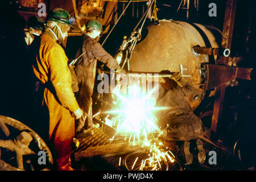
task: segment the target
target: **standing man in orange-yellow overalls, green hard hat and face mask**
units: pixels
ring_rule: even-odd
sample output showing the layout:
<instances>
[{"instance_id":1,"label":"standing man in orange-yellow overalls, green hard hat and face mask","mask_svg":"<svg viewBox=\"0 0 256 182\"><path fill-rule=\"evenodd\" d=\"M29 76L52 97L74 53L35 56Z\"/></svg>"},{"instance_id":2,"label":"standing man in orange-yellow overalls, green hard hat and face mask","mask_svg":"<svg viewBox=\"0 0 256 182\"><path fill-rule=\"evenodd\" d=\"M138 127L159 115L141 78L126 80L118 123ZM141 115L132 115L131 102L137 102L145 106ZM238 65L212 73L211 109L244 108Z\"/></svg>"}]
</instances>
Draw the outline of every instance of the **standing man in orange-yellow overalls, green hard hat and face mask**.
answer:
<instances>
[{"instance_id":1,"label":"standing man in orange-yellow overalls, green hard hat and face mask","mask_svg":"<svg viewBox=\"0 0 256 182\"><path fill-rule=\"evenodd\" d=\"M63 9L50 11L46 23L33 69L45 86L44 103L49 112L49 140L54 146L56 169L72 170L70 155L75 136L75 117L81 118L82 110L72 92L68 58L60 46L72 24L68 12Z\"/></svg>"}]
</instances>

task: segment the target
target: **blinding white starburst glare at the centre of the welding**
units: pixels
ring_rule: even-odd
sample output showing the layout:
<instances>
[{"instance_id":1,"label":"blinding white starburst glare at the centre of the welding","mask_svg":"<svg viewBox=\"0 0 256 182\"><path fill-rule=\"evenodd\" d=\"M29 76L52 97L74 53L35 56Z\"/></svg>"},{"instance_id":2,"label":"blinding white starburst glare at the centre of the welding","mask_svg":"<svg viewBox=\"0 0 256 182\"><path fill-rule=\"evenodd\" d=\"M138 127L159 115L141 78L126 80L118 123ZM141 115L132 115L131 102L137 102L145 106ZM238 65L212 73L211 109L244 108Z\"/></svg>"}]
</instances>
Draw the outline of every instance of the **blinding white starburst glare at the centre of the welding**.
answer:
<instances>
[{"instance_id":1,"label":"blinding white starburst glare at the centre of the welding","mask_svg":"<svg viewBox=\"0 0 256 182\"><path fill-rule=\"evenodd\" d=\"M154 111L165 109L166 107L155 107L155 98L152 97L154 89L144 94L137 85L131 85L127 94L114 93L117 97L118 109L105 113L117 114L116 120L118 133L136 134L146 137L149 133L159 132L157 118Z\"/></svg>"}]
</instances>

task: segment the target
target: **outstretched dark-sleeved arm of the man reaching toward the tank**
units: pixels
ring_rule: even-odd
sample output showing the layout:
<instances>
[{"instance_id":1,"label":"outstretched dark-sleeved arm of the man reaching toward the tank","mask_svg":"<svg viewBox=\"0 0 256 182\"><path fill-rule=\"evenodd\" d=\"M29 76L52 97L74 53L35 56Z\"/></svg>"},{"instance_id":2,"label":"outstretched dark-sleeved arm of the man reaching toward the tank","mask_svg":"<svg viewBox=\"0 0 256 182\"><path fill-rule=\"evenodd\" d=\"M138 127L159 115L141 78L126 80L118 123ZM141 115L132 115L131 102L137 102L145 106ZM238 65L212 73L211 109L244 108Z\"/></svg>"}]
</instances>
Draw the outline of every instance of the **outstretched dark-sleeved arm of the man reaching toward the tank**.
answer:
<instances>
[{"instance_id":1,"label":"outstretched dark-sleeved arm of the man reaching toward the tank","mask_svg":"<svg viewBox=\"0 0 256 182\"><path fill-rule=\"evenodd\" d=\"M92 46L93 56L96 59L100 60L102 63L106 64L110 69L117 69L118 63L108 52L105 51L103 47L101 47L100 43L96 43Z\"/></svg>"}]
</instances>

